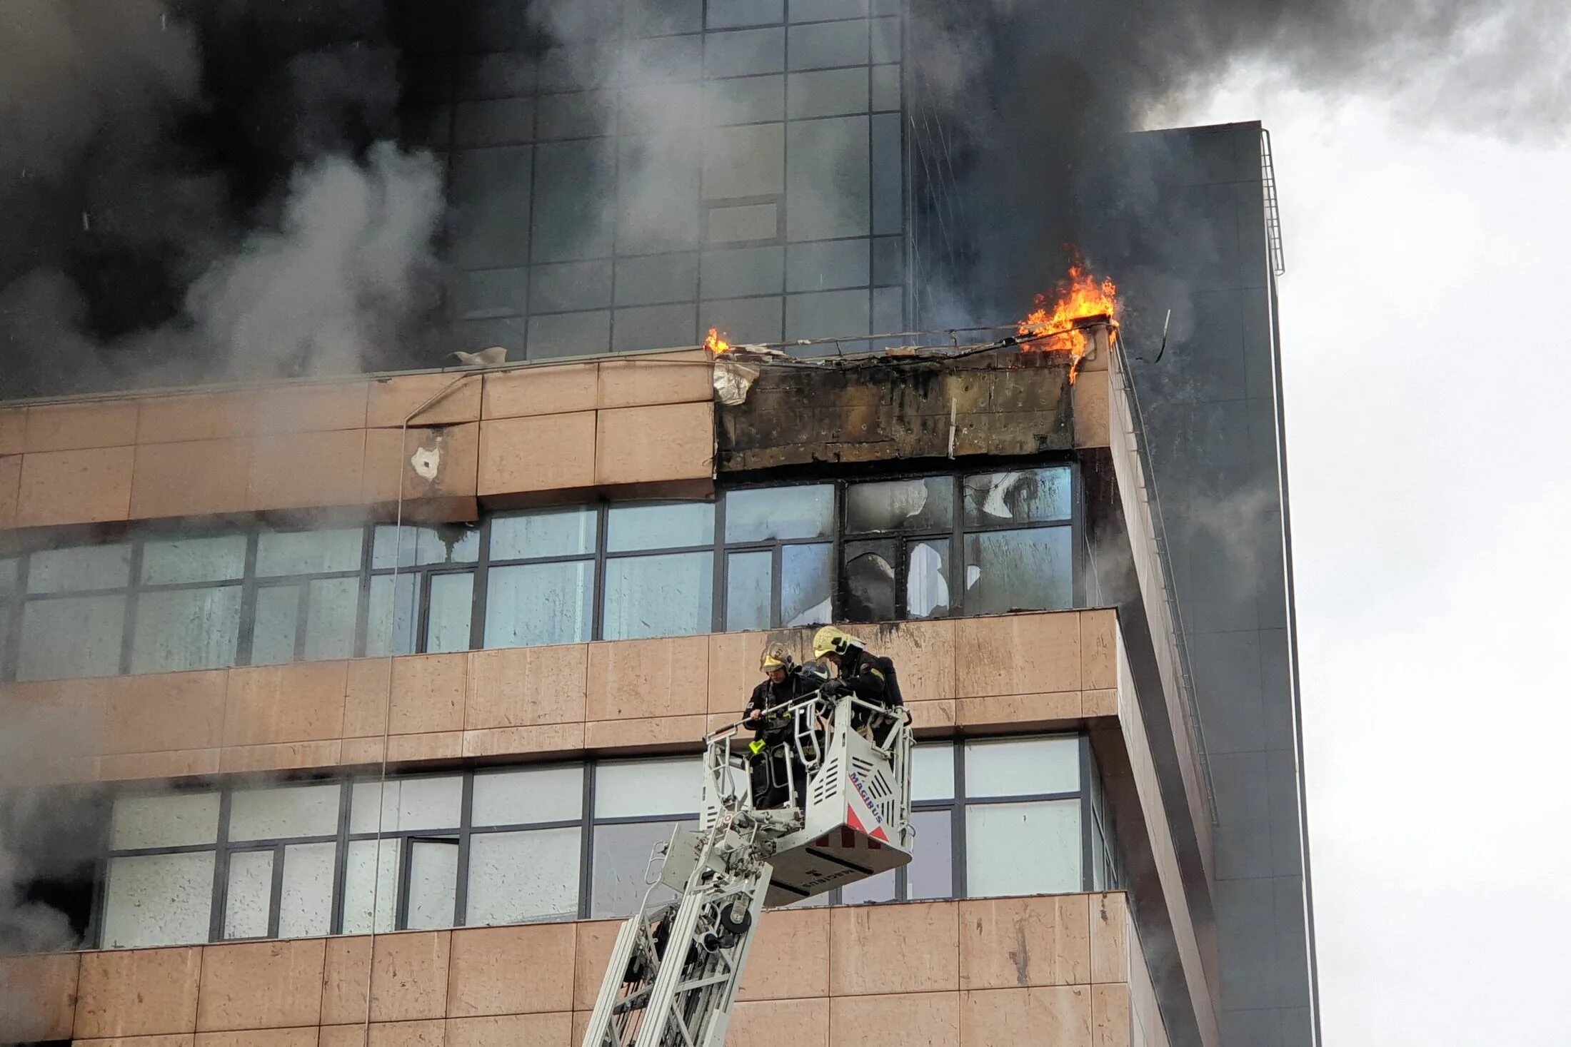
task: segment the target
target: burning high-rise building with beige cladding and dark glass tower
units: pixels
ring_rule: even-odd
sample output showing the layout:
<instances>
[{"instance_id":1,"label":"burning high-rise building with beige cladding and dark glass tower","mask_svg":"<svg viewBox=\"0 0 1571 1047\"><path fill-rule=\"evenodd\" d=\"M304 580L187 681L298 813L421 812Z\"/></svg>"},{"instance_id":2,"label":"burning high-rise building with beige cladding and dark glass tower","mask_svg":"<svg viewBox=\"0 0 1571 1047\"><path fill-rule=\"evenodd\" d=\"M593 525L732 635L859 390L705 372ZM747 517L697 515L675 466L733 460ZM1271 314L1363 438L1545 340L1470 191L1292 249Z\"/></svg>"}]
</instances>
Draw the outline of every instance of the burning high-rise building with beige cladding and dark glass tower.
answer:
<instances>
[{"instance_id":1,"label":"burning high-rise building with beige cladding and dark glass tower","mask_svg":"<svg viewBox=\"0 0 1571 1047\"><path fill-rule=\"evenodd\" d=\"M820 623L916 857L726 1042L1316 1041L1258 126L1067 176L928 3L22 6L118 94L6 115L0 1042L578 1042Z\"/></svg>"}]
</instances>

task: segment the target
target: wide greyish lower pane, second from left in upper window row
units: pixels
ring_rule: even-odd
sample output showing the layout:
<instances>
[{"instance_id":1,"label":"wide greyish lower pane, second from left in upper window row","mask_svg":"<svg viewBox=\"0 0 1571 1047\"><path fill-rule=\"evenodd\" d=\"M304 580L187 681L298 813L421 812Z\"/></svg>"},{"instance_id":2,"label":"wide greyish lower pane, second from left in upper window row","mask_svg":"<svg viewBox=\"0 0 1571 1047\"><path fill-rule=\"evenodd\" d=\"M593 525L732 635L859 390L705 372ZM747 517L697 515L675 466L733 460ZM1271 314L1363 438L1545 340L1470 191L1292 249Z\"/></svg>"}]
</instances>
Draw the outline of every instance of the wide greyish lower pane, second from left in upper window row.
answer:
<instances>
[{"instance_id":1,"label":"wide greyish lower pane, second from left in upper window row","mask_svg":"<svg viewBox=\"0 0 1571 1047\"><path fill-rule=\"evenodd\" d=\"M240 587L143 592L130 639L130 672L181 672L234 664Z\"/></svg>"}]
</instances>

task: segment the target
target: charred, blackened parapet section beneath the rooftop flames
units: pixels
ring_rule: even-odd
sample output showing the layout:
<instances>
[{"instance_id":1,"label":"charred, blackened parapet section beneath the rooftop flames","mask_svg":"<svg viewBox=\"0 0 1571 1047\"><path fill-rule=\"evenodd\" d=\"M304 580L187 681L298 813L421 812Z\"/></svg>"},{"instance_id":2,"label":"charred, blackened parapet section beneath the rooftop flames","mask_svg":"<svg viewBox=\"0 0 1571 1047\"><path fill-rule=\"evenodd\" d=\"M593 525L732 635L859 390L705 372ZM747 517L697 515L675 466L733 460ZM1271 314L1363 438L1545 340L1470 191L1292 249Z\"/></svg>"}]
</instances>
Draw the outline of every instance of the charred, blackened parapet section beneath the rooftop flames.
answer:
<instances>
[{"instance_id":1,"label":"charred, blackened parapet section beneath the rooftop flames","mask_svg":"<svg viewBox=\"0 0 1571 1047\"><path fill-rule=\"evenodd\" d=\"M715 359L715 468L1034 455L1108 444L1109 323L1071 383L1067 353L1010 342L795 359L743 345Z\"/></svg>"}]
</instances>

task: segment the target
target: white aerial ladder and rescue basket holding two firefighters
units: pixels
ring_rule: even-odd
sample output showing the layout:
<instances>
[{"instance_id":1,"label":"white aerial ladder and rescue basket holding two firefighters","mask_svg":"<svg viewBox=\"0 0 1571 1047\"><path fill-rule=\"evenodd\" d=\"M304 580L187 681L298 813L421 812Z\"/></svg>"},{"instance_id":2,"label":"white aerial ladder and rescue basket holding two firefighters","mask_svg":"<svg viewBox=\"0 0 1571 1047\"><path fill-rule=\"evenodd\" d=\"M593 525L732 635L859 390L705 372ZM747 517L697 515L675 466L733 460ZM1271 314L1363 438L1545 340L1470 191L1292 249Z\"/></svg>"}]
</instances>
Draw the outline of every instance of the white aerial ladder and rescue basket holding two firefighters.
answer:
<instances>
[{"instance_id":1,"label":"white aerial ladder and rescue basket holding two firefighters","mask_svg":"<svg viewBox=\"0 0 1571 1047\"><path fill-rule=\"evenodd\" d=\"M699 827L657 849L660 876L617 934L583 1047L721 1047L765 909L911 860L906 711L818 691L786 711L779 807L754 808L735 725L705 739ZM680 898L658 901L660 885Z\"/></svg>"}]
</instances>

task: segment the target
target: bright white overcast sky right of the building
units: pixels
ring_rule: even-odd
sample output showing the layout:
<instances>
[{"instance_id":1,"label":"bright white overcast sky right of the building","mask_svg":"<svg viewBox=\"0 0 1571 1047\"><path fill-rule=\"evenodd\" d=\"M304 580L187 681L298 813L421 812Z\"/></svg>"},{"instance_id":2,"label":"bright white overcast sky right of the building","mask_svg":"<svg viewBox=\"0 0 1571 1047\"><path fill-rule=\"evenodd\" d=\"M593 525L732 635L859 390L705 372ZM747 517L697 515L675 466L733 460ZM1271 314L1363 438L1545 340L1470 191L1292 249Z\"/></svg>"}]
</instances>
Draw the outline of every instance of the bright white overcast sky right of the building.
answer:
<instances>
[{"instance_id":1,"label":"bright white overcast sky right of the building","mask_svg":"<svg viewBox=\"0 0 1571 1047\"><path fill-rule=\"evenodd\" d=\"M1235 75L1271 130L1324 1042L1571 1042L1571 149Z\"/></svg>"}]
</instances>

